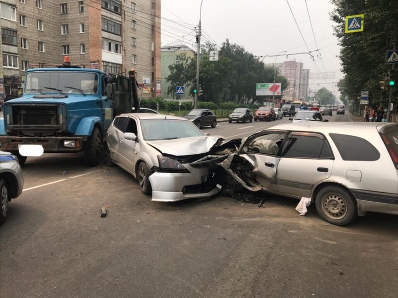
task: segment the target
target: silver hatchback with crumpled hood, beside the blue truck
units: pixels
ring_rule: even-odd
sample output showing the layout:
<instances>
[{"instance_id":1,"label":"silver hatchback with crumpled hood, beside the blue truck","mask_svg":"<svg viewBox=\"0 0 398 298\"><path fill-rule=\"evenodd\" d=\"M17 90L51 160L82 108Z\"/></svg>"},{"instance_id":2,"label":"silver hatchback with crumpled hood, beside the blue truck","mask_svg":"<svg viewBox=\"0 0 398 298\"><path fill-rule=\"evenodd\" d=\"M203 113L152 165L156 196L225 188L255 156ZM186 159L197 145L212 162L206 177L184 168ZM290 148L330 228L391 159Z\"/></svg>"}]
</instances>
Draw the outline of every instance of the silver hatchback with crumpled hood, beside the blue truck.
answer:
<instances>
[{"instance_id":1,"label":"silver hatchback with crumpled hood, beside the blue truck","mask_svg":"<svg viewBox=\"0 0 398 298\"><path fill-rule=\"evenodd\" d=\"M206 157L220 141L221 137L206 136L186 118L121 114L107 131L106 165L116 164L132 174L141 192L152 194L152 201L210 197L221 189L212 160L195 161Z\"/></svg>"}]
</instances>

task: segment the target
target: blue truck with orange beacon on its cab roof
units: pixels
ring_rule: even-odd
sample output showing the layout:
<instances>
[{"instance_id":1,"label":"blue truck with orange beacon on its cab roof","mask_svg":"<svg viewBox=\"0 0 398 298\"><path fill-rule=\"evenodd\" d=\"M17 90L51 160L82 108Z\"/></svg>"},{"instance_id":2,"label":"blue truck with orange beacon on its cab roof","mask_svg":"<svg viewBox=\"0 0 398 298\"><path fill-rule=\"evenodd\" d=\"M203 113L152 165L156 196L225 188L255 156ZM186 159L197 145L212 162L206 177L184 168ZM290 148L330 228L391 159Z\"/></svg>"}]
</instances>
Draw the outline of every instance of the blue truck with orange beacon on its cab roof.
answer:
<instances>
[{"instance_id":1,"label":"blue truck with orange beacon on its cab roof","mask_svg":"<svg viewBox=\"0 0 398 298\"><path fill-rule=\"evenodd\" d=\"M4 103L0 118L0 150L9 151L23 165L23 145L44 153L84 151L87 166L101 161L106 131L115 116L139 112L138 84L128 76L73 66L27 70L22 96Z\"/></svg>"}]
</instances>

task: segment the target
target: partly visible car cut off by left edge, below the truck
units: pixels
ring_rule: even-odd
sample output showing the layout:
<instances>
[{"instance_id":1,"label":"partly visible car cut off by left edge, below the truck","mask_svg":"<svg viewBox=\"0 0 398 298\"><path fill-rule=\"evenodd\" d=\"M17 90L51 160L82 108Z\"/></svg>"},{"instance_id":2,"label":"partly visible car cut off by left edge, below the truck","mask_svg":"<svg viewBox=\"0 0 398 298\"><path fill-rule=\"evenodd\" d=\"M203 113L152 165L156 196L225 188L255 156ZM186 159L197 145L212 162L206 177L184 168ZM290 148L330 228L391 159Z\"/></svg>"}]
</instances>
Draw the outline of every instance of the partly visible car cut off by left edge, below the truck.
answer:
<instances>
[{"instance_id":1,"label":"partly visible car cut off by left edge, below the truck","mask_svg":"<svg viewBox=\"0 0 398 298\"><path fill-rule=\"evenodd\" d=\"M0 151L0 225L7 218L8 203L19 197L22 188L23 176L18 157L10 152Z\"/></svg>"}]
</instances>

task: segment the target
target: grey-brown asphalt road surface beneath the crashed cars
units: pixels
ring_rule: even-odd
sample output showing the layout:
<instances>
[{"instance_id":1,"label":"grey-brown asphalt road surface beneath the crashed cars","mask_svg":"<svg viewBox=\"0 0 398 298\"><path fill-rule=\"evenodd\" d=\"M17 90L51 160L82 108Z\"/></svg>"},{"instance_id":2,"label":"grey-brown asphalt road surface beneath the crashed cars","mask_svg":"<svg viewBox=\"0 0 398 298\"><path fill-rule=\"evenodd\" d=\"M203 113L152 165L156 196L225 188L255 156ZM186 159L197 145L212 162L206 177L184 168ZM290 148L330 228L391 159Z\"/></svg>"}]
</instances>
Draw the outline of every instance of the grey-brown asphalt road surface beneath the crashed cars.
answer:
<instances>
[{"instance_id":1,"label":"grey-brown asphalt road surface beneath the crashed cars","mask_svg":"<svg viewBox=\"0 0 398 298\"><path fill-rule=\"evenodd\" d=\"M350 121L348 116L327 119ZM286 122L221 122L245 137ZM396 297L398 216L348 227L297 201L151 202L125 171L82 155L28 158L0 227L0 297ZM108 215L100 209L108 206Z\"/></svg>"}]
</instances>

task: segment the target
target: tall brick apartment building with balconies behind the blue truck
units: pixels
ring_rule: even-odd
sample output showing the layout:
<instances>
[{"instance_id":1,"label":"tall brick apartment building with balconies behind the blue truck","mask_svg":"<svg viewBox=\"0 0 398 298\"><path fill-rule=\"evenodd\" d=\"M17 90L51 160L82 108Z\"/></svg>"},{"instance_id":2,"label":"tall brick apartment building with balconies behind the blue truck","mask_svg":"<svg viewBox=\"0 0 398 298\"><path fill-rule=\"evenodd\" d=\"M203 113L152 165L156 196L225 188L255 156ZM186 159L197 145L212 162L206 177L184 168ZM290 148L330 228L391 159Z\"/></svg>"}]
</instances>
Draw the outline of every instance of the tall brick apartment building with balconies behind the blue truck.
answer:
<instances>
[{"instance_id":1,"label":"tall brick apartment building with balconies behind the blue truck","mask_svg":"<svg viewBox=\"0 0 398 298\"><path fill-rule=\"evenodd\" d=\"M5 91L35 65L110 74L134 68L143 97L160 95L161 0L0 0ZM0 76L1 77L1 76Z\"/></svg>"}]
</instances>

